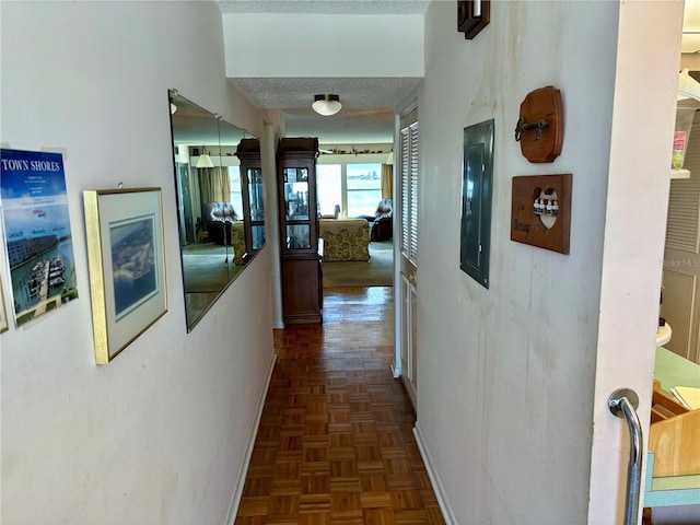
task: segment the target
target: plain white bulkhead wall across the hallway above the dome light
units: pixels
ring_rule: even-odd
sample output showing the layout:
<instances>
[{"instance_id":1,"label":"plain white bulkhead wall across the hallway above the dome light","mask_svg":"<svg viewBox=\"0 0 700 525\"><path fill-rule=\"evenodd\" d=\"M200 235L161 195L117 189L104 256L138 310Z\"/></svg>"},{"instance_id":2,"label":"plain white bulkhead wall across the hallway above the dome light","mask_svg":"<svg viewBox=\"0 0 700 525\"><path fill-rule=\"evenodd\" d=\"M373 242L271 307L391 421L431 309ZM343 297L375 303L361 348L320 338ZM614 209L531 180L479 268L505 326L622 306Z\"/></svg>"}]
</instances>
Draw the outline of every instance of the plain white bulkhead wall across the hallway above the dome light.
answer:
<instances>
[{"instance_id":1,"label":"plain white bulkhead wall across the hallway above the dome light","mask_svg":"<svg viewBox=\"0 0 700 525\"><path fill-rule=\"evenodd\" d=\"M255 50L226 54L231 78L423 75L421 15L232 13L223 27L226 48Z\"/></svg>"}]
</instances>

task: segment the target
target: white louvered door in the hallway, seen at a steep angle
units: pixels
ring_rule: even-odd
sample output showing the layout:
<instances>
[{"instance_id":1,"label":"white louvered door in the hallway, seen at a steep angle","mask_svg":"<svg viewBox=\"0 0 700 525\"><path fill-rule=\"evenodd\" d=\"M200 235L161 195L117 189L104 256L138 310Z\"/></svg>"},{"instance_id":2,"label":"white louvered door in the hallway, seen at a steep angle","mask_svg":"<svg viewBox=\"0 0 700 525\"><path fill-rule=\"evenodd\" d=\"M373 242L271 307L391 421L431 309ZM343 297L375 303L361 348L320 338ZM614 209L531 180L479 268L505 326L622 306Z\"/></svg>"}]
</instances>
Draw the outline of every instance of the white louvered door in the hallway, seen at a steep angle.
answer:
<instances>
[{"instance_id":1,"label":"white louvered door in the hallway, seen at a steep angle","mask_svg":"<svg viewBox=\"0 0 700 525\"><path fill-rule=\"evenodd\" d=\"M416 306L418 303L418 110L401 118L400 180L400 355L401 378L413 407L418 378Z\"/></svg>"}]
</instances>

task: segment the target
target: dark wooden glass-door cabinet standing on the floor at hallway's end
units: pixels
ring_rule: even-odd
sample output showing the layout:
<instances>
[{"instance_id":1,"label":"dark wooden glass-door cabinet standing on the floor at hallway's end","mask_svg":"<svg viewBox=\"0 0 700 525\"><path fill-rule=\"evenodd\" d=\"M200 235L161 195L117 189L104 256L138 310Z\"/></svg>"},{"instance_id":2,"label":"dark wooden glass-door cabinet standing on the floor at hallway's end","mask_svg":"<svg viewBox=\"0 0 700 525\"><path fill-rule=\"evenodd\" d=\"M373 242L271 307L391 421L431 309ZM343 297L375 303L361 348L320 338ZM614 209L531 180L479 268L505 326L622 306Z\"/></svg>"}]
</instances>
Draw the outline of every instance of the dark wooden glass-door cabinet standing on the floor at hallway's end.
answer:
<instances>
[{"instance_id":1,"label":"dark wooden glass-door cabinet standing on the floor at hallway's end","mask_svg":"<svg viewBox=\"0 0 700 525\"><path fill-rule=\"evenodd\" d=\"M316 159L318 139L284 138L277 149L285 324L323 322Z\"/></svg>"}]
</instances>

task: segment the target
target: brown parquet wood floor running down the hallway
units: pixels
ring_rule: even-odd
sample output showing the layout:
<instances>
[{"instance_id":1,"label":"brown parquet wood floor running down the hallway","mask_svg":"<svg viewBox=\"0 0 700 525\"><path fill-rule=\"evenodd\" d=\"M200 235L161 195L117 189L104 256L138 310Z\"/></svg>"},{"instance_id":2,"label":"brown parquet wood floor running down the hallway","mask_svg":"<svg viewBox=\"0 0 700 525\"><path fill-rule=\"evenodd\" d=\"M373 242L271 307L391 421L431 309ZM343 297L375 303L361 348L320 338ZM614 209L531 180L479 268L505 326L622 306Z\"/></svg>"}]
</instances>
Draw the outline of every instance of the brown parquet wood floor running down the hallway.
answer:
<instances>
[{"instance_id":1,"label":"brown parquet wood floor running down the hallway","mask_svg":"<svg viewBox=\"0 0 700 525\"><path fill-rule=\"evenodd\" d=\"M392 373L392 288L328 289L278 353L236 525L444 524Z\"/></svg>"}]
</instances>

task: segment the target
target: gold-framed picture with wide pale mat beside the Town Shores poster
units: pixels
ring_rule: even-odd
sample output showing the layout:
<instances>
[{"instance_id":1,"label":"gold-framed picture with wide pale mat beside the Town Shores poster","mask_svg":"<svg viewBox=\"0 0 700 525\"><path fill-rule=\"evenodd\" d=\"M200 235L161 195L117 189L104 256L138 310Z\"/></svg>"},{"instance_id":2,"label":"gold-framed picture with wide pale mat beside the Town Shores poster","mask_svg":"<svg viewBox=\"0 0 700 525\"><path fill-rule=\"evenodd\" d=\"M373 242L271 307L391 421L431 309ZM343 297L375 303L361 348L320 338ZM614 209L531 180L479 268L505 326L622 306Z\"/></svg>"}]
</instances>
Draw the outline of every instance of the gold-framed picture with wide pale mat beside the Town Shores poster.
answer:
<instances>
[{"instance_id":1,"label":"gold-framed picture with wide pale mat beside the Town Shores poster","mask_svg":"<svg viewBox=\"0 0 700 525\"><path fill-rule=\"evenodd\" d=\"M167 312L161 188L83 200L95 362L106 364Z\"/></svg>"}]
</instances>

